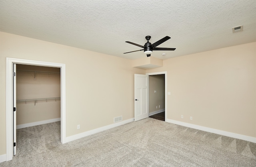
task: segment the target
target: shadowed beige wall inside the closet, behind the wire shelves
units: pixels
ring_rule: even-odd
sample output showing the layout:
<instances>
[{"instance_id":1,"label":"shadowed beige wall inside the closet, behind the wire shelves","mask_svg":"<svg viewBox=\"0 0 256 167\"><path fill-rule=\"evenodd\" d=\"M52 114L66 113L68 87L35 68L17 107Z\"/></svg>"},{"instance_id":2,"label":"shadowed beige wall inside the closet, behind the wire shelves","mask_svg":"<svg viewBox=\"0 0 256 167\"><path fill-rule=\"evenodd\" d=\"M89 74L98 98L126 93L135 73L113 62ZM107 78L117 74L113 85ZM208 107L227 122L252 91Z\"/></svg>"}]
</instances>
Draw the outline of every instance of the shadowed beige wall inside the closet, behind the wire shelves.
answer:
<instances>
[{"instance_id":1,"label":"shadowed beige wall inside the closet, behind the wire shelves","mask_svg":"<svg viewBox=\"0 0 256 167\"><path fill-rule=\"evenodd\" d=\"M60 74L28 73L45 71L60 73L60 68L16 65L16 99L60 97ZM60 118L60 100L17 102L16 125Z\"/></svg>"}]
</instances>

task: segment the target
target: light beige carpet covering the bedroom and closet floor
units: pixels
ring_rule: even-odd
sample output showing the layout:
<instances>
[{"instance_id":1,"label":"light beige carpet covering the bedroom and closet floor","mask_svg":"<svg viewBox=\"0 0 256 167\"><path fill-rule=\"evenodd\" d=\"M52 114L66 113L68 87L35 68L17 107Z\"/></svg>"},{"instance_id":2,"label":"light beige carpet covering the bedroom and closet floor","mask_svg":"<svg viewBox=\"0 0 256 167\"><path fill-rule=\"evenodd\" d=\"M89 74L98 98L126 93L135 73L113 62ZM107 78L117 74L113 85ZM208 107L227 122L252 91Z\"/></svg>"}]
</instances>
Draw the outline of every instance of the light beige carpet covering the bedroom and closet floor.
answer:
<instances>
[{"instance_id":1,"label":"light beige carpet covering the bedroom and closet floor","mask_svg":"<svg viewBox=\"0 0 256 167\"><path fill-rule=\"evenodd\" d=\"M3 167L256 167L256 143L153 118L66 144L60 122L17 130L17 155Z\"/></svg>"}]
</instances>

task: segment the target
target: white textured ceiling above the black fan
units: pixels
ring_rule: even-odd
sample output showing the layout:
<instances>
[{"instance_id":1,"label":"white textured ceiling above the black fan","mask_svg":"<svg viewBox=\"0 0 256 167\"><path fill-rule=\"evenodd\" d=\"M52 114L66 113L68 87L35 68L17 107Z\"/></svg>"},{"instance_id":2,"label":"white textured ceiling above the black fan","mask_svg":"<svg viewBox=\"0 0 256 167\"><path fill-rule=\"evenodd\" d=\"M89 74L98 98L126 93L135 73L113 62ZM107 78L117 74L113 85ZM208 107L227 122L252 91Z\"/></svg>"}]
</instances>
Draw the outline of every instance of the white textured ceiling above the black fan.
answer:
<instances>
[{"instance_id":1,"label":"white textured ceiling above the black fan","mask_svg":"<svg viewBox=\"0 0 256 167\"><path fill-rule=\"evenodd\" d=\"M0 0L0 31L127 59L168 35L168 59L256 41L256 0Z\"/></svg>"}]
</instances>

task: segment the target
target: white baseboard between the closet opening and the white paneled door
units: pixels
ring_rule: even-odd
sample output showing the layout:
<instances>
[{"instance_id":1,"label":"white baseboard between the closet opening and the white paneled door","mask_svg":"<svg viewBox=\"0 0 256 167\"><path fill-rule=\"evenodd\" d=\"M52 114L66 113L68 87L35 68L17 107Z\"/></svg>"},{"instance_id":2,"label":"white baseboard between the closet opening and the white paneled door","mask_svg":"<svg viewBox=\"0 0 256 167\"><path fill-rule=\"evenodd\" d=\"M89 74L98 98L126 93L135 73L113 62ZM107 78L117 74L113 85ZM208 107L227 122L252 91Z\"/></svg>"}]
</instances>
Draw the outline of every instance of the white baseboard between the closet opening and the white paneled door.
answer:
<instances>
[{"instance_id":1,"label":"white baseboard between the closet opening and the white paneled door","mask_svg":"<svg viewBox=\"0 0 256 167\"><path fill-rule=\"evenodd\" d=\"M66 137L66 142L73 141L73 140L80 139L80 138L84 138L86 136L96 134L98 132L102 132L104 130L108 130L108 129L111 129L111 128L115 128L117 126L121 126L121 125L127 124L129 122L133 122L133 121L134 121L134 118L131 118L131 119L128 119L128 120L124 120L124 121L121 121L121 122L116 122L114 124L103 126L103 127L100 127L100 128L94 129L94 130L89 130L87 132L83 132L83 133L80 133L80 134L69 136L69 137Z\"/></svg>"}]
</instances>

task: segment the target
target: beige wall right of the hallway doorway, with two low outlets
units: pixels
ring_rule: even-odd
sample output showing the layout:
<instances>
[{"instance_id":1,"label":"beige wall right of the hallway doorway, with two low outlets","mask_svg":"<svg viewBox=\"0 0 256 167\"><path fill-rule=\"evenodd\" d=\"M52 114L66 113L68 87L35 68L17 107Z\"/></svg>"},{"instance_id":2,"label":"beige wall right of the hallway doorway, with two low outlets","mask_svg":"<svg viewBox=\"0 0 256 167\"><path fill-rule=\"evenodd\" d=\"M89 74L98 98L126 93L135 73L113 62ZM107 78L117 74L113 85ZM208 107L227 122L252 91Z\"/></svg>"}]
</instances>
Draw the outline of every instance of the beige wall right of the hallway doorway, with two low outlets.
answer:
<instances>
[{"instance_id":1,"label":"beige wall right of the hallway doorway, with two low outlets","mask_svg":"<svg viewBox=\"0 0 256 167\"><path fill-rule=\"evenodd\" d=\"M255 57L254 42L166 59L146 72L167 71L168 119L256 137Z\"/></svg>"}]
</instances>

